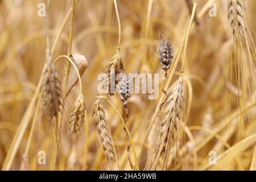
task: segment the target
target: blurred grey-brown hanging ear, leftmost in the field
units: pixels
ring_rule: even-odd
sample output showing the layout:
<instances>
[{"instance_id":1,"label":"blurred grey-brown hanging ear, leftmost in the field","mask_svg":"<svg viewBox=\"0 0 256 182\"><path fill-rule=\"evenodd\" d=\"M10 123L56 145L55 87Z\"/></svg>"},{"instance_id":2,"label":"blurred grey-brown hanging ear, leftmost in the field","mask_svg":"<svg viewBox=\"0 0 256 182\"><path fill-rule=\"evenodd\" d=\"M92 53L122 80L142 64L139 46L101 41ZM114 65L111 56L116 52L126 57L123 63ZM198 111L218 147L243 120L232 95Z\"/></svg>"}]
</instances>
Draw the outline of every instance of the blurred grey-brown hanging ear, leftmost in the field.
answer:
<instances>
[{"instance_id":1,"label":"blurred grey-brown hanging ear, leftmost in the field","mask_svg":"<svg viewBox=\"0 0 256 182\"><path fill-rule=\"evenodd\" d=\"M61 82L58 78L58 71L51 57L46 62L46 72L42 85L42 105L43 116L49 119L57 118L57 113L61 112L63 106L63 94Z\"/></svg>"}]
</instances>

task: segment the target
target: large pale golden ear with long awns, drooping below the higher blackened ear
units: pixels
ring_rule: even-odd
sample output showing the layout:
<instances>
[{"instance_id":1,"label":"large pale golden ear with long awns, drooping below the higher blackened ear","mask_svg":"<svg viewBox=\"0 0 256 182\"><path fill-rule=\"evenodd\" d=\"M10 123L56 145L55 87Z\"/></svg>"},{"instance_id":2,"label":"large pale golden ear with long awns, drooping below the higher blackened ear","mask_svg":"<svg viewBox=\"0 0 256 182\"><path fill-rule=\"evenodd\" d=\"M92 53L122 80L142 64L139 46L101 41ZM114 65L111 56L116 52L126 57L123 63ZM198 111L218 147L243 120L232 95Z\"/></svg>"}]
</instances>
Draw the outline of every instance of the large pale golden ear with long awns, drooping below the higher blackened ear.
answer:
<instances>
[{"instance_id":1,"label":"large pale golden ear with long awns, drooping below the higher blackened ear","mask_svg":"<svg viewBox=\"0 0 256 182\"><path fill-rule=\"evenodd\" d=\"M152 168L155 169L161 154L164 153L164 160L168 160L170 147L181 136L178 128L180 127L181 117L183 115L183 76L180 73L174 89L164 101L162 110L159 113L159 131L156 135L153 146Z\"/></svg>"}]
</instances>

